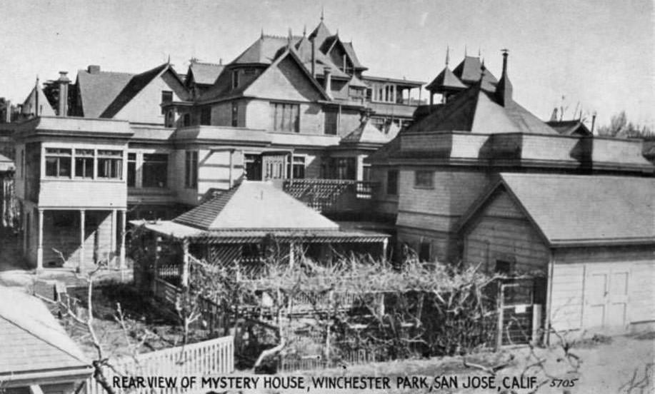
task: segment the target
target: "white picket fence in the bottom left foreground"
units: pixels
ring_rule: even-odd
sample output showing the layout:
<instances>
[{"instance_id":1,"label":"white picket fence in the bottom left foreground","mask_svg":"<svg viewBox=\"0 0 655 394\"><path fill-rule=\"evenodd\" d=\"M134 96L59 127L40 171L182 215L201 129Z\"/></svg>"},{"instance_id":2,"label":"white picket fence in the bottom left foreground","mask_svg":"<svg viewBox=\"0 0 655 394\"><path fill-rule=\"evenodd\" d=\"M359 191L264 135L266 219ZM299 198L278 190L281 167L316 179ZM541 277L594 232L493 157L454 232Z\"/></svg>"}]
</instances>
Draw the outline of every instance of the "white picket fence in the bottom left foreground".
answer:
<instances>
[{"instance_id":1,"label":"white picket fence in the bottom left foreground","mask_svg":"<svg viewBox=\"0 0 655 394\"><path fill-rule=\"evenodd\" d=\"M116 388L116 393L193 393L194 390L181 388L180 380L182 377L227 375L234 371L234 337L229 335L191 345L142 353L136 355L136 359L134 357L124 358L112 362L111 365L119 371L119 374L106 368L105 373L109 383L113 381L114 375L177 378L177 384L174 388L131 388L125 390ZM198 391L204 392L206 390L198 389ZM86 393L104 394L105 391L94 378L89 378L86 380Z\"/></svg>"}]
</instances>

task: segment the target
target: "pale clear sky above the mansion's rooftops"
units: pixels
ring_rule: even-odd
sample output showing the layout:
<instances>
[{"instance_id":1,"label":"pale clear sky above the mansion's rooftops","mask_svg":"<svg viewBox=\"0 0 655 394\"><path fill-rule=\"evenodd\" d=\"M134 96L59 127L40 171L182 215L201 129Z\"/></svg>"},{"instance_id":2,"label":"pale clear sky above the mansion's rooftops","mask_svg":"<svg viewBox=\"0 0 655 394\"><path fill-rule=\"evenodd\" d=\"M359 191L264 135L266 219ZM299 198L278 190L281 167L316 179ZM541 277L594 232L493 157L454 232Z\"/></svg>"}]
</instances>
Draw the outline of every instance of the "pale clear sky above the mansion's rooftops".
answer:
<instances>
[{"instance_id":1,"label":"pale clear sky above the mansion's rooftops","mask_svg":"<svg viewBox=\"0 0 655 394\"><path fill-rule=\"evenodd\" d=\"M464 52L497 77L509 49L514 99L541 118L555 106L597 124L626 111L655 126L655 14L652 0L0 0L0 97L21 102L38 75L75 78L99 64L139 73L170 56L225 63L265 34L325 24L352 41L368 75L429 83ZM427 95L424 93L423 97ZM579 109L578 109L579 111Z\"/></svg>"}]
</instances>

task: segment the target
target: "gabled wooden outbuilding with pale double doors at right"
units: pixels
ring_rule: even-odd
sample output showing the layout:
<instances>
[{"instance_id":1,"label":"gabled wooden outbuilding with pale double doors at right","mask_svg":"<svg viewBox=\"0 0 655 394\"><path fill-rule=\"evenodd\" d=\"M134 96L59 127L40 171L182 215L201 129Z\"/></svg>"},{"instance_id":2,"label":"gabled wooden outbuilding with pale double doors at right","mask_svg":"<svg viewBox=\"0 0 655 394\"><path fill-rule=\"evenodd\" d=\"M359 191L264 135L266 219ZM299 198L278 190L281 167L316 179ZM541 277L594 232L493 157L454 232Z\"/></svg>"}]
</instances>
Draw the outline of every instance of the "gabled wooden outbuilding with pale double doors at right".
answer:
<instances>
[{"instance_id":1,"label":"gabled wooden outbuilding with pale double doors at right","mask_svg":"<svg viewBox=\"0 0 655 394\"><path fill-rule=\"evenodd\" d=\"M652 329L654 205L654 178L500 173L461 221L464 261L546 277L544 328Z\"/></svg>"}]
</instances>

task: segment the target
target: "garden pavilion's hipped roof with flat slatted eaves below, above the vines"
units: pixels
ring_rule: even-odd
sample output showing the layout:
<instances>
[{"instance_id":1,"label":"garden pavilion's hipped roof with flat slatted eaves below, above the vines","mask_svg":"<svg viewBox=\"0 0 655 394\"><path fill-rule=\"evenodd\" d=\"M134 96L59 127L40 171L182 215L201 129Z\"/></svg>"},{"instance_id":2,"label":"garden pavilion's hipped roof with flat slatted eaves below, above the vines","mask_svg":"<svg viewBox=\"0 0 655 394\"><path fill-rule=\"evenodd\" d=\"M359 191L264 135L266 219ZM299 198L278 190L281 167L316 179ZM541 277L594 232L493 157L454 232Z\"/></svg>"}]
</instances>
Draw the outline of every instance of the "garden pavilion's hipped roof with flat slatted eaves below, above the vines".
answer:
<instances>
[{"instance_id":1,"label":"garden pavilion's hipped roof with flat slatted eaves below, above the vines","mask_svg":"<svg viewBox=\"0 0 655 394\"><path fill-rule=\"evenodd\" d=\"M386 256L389 234L341 228L270 182L242 181L172 221L132 221L155 238L181 246L180 281L188 285L189 255L210 263L264 263L262 246L274 243L293 265L302 253L324 262L336 249ZM155 277L158 267L155 266Z\"/></svg>"}]
</instances>

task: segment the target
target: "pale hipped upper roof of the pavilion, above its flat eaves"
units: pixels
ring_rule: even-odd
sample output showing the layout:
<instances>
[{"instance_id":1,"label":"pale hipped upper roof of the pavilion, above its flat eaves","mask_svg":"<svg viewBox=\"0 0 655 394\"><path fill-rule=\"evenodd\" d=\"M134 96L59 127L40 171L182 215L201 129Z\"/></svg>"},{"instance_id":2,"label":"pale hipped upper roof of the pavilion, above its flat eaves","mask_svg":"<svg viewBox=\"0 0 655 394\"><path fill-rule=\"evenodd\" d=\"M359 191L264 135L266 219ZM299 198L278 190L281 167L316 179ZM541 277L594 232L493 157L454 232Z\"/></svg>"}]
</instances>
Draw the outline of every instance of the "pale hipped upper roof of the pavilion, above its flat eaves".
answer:
<instances>
[{"instance_id":1,"label":"pale hipped upper roof of the pavilion, above its flat eaves","mask_svg":"<svg viewBox=\"0 0 655 394\"><path fill-rule=\"evenodd\" d=\"M261 181L242 181L231 190L174 218L173 222L206 231L339 228L272 183Z\"/></svg>"}]
</instances>

